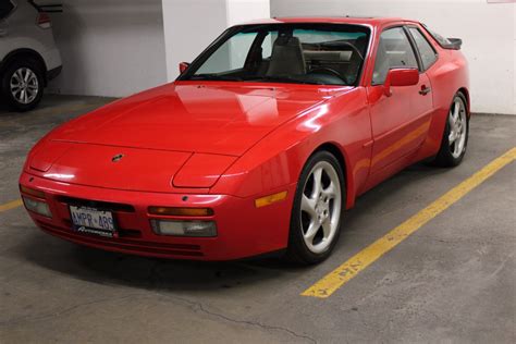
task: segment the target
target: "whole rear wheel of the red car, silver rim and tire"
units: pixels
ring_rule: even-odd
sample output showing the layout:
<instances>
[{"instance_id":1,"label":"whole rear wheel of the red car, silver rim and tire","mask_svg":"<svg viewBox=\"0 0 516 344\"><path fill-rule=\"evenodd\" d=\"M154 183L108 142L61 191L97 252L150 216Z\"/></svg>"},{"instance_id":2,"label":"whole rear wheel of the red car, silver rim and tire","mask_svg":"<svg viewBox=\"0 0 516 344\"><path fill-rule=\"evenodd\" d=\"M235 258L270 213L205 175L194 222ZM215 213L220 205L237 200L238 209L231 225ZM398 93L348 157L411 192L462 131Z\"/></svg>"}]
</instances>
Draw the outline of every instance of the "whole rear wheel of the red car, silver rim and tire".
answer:
<instances>
[{"instance_id":1,"label":"whole rear wheel of the red car, silver rim and tire","mask_svg":"<svg viewBox=\"0 0 516 344\"><path fill-rule=\"evenodd\" d=\"M459 107L458 110L456 110L456 107ZM455 113L458 115L457 120L454 120ZM441 168L454 168L459 165L466 155L468 139L469 109L467 107L466 97L462 93L458 93L453 99L446 118L441 148L431 164Z\"/></svg>"}]
</instances>

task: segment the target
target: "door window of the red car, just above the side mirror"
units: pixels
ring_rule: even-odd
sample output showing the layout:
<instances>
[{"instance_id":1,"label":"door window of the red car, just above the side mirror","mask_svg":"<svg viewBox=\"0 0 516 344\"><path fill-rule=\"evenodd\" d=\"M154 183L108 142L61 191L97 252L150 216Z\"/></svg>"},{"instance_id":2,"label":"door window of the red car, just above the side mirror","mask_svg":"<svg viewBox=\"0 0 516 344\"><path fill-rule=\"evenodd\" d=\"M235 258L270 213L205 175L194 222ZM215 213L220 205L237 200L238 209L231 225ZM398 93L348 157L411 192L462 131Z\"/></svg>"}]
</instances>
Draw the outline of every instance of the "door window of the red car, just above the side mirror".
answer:
<instances>
[{"instance_id":1,"label":"door window of the red car, just above the side mirror","mask_svg":"<svg viewBox=\"0 0 516 344\"><path fill-rule=\"evenodd\" d=\"M383 85L389 71L395 67L418 67L413 47L403 27L386 29L380 36L372 85Z\"/></svg>"}]
</instances>

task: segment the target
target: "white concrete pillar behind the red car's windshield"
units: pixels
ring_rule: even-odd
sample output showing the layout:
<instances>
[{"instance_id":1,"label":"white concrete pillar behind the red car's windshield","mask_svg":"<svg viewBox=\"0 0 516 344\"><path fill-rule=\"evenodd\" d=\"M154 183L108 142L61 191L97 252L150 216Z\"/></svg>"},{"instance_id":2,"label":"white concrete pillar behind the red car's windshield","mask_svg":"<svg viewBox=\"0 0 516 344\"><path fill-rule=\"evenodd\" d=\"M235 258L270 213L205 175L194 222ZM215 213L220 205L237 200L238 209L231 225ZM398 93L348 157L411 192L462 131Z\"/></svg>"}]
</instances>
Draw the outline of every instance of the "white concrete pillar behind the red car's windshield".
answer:
<instances>
[{"instance_id":1,"label":"white concrete pillar behind the red car's windshield","mask_svg":"<svg viewBox=\"0 0 516 344\"><path fill-rule=\"evenodd\" d=\"M162 0L167 77L193 61L224 29L270 17L270 0Z\"/></svg>"}]
</instances>

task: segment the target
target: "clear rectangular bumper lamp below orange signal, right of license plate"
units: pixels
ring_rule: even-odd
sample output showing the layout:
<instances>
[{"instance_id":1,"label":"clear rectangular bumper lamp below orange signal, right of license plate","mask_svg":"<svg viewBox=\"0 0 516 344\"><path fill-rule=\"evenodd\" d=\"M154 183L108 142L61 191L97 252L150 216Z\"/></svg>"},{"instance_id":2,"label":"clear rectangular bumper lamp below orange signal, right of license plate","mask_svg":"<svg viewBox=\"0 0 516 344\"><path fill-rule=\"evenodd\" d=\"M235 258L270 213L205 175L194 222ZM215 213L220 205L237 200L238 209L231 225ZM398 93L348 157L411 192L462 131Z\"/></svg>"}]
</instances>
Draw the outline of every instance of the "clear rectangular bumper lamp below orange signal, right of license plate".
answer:
<instances>
[{"instance_id":1,"label":"clear rectangular bumper lamp below orange signal, right of license plate","mask_svg":"<svg viewBox=\"0 0 516 344\"><path fill-rule=\"evenodd\" d=\"M158 235L174 236L217 236L214 221L176 221L176 220L150 220L152 231Z\"/></svg>"}]
</instances>

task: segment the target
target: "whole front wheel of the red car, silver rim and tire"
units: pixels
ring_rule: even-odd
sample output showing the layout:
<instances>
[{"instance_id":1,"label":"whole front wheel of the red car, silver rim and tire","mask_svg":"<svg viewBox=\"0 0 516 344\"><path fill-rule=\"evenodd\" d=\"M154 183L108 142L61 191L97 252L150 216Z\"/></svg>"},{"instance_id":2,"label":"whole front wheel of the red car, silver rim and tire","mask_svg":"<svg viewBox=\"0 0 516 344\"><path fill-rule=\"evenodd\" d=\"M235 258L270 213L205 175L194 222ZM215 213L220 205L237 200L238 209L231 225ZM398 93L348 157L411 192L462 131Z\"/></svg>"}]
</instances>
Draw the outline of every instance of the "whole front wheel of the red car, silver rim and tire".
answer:
<instances>
[{"instance_id":1,"label":"whole front wheel of the red car, silver rim and tire","mask_svg":"<svg viewBox=\"0 0 516 344\"><path fill-rule=\"evenodd\" d=\"M341 233L345 195L339 160L328 151L314 153L303 168L294 197L286 249L290 261L314 265L330 256Z\"/></svg>"}]
</instances>

